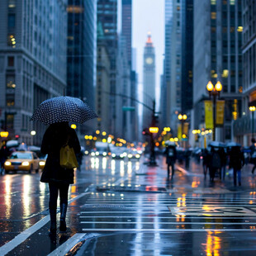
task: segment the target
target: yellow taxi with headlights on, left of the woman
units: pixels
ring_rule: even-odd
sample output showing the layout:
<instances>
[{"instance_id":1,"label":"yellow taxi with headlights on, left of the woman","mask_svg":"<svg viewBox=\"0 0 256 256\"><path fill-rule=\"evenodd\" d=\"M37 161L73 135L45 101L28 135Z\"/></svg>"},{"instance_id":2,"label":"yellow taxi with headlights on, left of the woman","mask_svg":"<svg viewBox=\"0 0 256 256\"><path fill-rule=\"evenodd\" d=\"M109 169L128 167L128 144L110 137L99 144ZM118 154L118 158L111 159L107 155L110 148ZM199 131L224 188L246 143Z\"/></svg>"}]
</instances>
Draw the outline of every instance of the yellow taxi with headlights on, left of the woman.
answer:
<instances>
[{"instance_id":1,"label":"yellow taxi with headlights on, left of the woman","mask_svg":"<svg viewBox=\"0 0 256 256\"><path fill-rule=\"evenodd\" d=\"M18 170L31 171L36 170L38 173L40 165L40 159L37 157L35 152L31 151L16 151L11 154L9 159L4 163L5 173L17 172Z\"/></svg>"}]
</instances>

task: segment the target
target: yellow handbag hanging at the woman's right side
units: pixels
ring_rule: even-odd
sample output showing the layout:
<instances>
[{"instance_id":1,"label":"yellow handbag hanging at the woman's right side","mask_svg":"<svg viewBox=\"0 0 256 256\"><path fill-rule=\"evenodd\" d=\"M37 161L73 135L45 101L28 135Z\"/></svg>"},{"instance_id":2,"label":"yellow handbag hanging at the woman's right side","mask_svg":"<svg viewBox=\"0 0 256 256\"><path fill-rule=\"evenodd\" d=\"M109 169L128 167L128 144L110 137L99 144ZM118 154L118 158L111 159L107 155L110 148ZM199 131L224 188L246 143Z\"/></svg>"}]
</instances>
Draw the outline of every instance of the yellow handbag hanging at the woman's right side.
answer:
<instances>
[{"instance_id":1,"label":"yellow handbag hanging at the woman's right side","mask_svg":"<svg viewBox=\"0 0 256 256\"><path fill-rule=\"evenodd\" d=\"M63 168L77 168L78 160L74 154L73 148L69 145L64 145L60 148L59 164Z\"/></svg>"}]
</instances>

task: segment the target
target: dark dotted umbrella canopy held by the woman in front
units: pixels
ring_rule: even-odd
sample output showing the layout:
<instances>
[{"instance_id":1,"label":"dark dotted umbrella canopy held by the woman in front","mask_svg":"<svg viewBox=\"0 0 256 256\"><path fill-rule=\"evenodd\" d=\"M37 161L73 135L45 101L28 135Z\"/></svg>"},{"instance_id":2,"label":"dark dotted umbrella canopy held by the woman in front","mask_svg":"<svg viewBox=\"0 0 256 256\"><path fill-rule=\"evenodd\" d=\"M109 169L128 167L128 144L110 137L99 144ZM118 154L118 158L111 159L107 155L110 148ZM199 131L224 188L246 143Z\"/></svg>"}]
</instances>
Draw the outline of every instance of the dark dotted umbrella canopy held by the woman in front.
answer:
<instances>
[{"instance_id":1,"label":"dark dotted umbrella canopy held by the woman in front","mask_svg":"<svg viewBox=\"0 0 256 256\"><path fill-rule=\"evenodd\" d=\"M52 97L40 103L31 117L33 121L40 121L45 125L57 122L73 121L83 123L97 114L77 97L60 96Z\"/></svg>"}]
</instances>

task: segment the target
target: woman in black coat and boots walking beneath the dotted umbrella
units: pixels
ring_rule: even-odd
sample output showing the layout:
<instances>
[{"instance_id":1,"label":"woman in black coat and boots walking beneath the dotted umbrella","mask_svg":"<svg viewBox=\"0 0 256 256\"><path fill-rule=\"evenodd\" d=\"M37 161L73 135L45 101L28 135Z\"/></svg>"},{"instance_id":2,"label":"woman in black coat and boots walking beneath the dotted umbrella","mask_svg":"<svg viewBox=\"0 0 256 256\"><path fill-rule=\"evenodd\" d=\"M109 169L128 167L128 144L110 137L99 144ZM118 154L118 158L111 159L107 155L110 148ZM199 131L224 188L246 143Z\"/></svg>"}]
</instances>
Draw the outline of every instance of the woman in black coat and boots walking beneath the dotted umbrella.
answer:
<instances>
[{"instance_id":1,"label":"woman in black coat and boots walking beneath the dotted umbrella","mask_svg":"<svg viewBox=\"0 0 256 256\"><path fill-rule=\"evenodd\" d=\"M68 192L69 184L73 184L73 168L63 168L60 166L60 149L64 145L69 145L73 148L74 153L80 152L80 144L78 136L72 128L69 127L69 122L57 122L51 124L45 131L42 140L41 153L48 154L45 162L45 168L42 172L40 182L49 183L50 199L50 235L56 234L56 210L58 193L60 197L60 221L59 231L66 231L66 212L68 208Z\"/></svg>"}]
</instances>

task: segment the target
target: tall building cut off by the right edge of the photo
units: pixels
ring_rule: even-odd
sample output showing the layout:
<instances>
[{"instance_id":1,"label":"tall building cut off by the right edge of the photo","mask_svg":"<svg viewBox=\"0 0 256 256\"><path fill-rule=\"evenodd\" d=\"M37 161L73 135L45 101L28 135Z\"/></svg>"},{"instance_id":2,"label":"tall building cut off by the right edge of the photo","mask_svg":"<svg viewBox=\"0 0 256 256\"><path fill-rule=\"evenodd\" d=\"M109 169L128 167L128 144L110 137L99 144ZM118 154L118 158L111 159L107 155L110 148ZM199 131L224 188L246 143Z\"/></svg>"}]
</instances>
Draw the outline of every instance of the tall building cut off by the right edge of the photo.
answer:
<instances>
[{"instance_id":1,"label":"tall building cut off by the right edge of the photo","mask_svg":"<svg viewBox=\"0 0 256 256\"><path fill-rule=\"evenodd\" d=\"M238 30L242 32L243 54L243 104L242 118L233 123L235 140L242 145L251 145L254 136L252 127L256 127L255 119L249 107L256 107L256 2L243 1L242 26L239 23ZM240 33L239 33L240 34ZM240 79L240 77L239 77ZM252 125L254 121L254 126ZM254 134L253 134L254 133Z\"/></svg>"}]
</instances>

